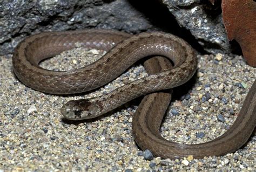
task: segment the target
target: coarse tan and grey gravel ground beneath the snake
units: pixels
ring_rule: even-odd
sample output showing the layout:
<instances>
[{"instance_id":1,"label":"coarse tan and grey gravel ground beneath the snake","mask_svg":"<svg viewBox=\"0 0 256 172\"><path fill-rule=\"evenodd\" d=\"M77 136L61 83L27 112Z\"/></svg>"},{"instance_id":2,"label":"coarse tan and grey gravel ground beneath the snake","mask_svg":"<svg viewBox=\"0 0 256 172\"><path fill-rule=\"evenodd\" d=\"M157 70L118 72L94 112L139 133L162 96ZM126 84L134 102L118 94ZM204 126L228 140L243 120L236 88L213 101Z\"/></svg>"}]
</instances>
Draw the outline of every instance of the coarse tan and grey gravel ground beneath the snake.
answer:
<instances>
[{"instance_id":1,"label":"coarse tan and grey gravel ground beneath the snake","mask_svg":"<svg viewBox=\"0 0 256 172\"><path fill-rule=\"evenodd\" d=\"M85 60L92 63L104 53L78 48L45 60L41 66L70 70L85 66ZM218 63L213 55L198 56L198 74L174 89L161 126L163 137L179 143L203 143L232 125L253 84L255 69L240 56L222 56ZM225 156L145 160L131 130L138 101L89 121L63 119L59 108L65 102L103 95L145 77L142 65L132 66L96 92L59 96L24 86L12 72L11 62L9 57L0 60L0 171L255 171L255 136L245 147Z\"/></svg>"}]
</instances>

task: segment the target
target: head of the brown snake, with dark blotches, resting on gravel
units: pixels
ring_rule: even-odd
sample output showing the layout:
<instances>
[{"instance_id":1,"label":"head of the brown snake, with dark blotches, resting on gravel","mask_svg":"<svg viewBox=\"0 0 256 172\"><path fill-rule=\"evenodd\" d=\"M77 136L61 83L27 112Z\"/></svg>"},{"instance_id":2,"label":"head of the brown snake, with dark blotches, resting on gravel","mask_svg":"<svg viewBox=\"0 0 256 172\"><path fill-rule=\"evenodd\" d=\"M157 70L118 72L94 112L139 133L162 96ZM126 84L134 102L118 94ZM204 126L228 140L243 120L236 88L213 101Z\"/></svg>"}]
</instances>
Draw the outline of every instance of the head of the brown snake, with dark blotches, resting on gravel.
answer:
<instances>
[{"instance_id":1,"label":"head of the brown snake, with dark blotches, resting on gravel","mask_svg":"<svg viewBox=\"0 0 256 172\"><path fill-rule=\"evenodd\" d=\"M101 110L99 102L89 99L71 100L62 106L60 112L69 120L84 120L97 117Z\"/></svg>"}]
</instances>

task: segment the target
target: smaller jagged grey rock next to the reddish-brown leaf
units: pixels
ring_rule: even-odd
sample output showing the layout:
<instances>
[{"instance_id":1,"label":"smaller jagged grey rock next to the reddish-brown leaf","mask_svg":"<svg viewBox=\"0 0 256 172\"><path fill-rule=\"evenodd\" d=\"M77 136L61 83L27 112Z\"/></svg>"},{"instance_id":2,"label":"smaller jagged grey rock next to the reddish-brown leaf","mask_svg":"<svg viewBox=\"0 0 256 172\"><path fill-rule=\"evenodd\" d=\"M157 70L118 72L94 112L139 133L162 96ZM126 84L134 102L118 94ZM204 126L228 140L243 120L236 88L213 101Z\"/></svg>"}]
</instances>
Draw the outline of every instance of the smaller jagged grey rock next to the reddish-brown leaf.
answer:
<instances>
[{"instance_id":1,"label":"smaller jagged grey rock next to the reddish-brown leaf","mask_svg":"<svg viewBox=\"0 0 256 172\"><path fill-rule=\"evenodd\" d=\"M220 1L212 5L200 0L164 0L181 27L191 34L210 53L231 52L222 20Z\"/></svg>"}]
</instances>

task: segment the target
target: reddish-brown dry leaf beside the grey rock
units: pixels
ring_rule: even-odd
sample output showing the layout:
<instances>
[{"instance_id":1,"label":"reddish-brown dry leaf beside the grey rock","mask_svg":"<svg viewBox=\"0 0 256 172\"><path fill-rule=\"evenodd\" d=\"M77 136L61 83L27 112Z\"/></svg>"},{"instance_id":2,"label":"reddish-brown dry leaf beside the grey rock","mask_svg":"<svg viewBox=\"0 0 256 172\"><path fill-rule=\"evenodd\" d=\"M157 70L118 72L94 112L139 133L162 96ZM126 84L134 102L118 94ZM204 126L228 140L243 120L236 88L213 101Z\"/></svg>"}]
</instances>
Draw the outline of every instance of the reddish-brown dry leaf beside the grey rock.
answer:
<instances>
[{"instance_id":1,"label":"reddish-brown dry leaf beside the grey rock","mask_svg":"<svg viewBox=\"0 0 256 172\"><path fill-rule=\"evenodd\" d=\"M222 11L228 39L240 44L247 63L256 66L256 2L223 0Z\"/></svg>"}]
</instances>

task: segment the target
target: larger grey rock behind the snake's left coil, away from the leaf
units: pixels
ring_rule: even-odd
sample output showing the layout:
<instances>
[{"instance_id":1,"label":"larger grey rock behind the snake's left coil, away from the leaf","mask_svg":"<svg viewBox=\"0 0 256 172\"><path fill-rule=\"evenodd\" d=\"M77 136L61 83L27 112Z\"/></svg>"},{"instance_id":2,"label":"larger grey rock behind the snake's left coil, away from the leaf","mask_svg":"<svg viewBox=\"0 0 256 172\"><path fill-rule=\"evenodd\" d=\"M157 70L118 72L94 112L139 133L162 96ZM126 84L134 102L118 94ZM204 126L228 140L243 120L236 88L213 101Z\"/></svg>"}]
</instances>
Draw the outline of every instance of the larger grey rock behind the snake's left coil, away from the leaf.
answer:
<instances>
[{"instance_id":1,"label":"larger grey rock behind the snake's left coil, away from the leaf","mask_svg":"<svg viewBox=\"0 0 256 172\"><path fill-rule=\"evenodd\" d=\"M152 25L126 0L0 1L0 54L33 33L90 27L138 33Z\"/></svg>"}]
</instances>

